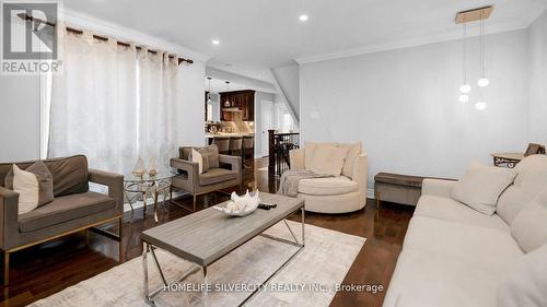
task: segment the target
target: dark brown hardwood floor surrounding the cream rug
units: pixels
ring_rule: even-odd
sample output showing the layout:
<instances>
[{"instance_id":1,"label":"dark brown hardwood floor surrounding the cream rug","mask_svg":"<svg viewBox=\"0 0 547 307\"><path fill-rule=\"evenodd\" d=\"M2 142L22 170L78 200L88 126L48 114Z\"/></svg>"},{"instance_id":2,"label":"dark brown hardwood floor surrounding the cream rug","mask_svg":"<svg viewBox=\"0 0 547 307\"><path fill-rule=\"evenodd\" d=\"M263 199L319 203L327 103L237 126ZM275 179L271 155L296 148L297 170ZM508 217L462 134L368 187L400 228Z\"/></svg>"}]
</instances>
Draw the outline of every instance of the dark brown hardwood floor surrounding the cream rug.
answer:
<instances>
[{"instance_id":1,"label":"dark brown hardwood floor surrounding the cream rug","mask_svg":"<svg viewBox=\"0 0 547 307\"><path fill-rule=\"evenodd\" d=\"M245 186L275 191L277 181L260 169L264 166L266 161L257 160L254 169L245 169ZM222 193L211 193L198 197L198 204L203 208L226 199ZM190 204L191 198L178 201ZM142 210L137 210L132 217L130 213L126 213L124 261L141 255L140 233L154 226L152 211L147 210L144 219ZM369 199L365 209L359 212L337 215L306 213L307 224L366 238L344 284L384 287L383 292L375 294L338 292L330 306L382 306L412 211L409 206L383 203L379 212L375 201ZM159 213L160 223L188 214L171 203L166 203ZM112 227L115 231L117 226ZM89 244L85 234L80 233L18 251L10 260L11 285L1 287L2 306L27 305L119 264L117 243L91 232Z\"/></svg>"}]
</instances>

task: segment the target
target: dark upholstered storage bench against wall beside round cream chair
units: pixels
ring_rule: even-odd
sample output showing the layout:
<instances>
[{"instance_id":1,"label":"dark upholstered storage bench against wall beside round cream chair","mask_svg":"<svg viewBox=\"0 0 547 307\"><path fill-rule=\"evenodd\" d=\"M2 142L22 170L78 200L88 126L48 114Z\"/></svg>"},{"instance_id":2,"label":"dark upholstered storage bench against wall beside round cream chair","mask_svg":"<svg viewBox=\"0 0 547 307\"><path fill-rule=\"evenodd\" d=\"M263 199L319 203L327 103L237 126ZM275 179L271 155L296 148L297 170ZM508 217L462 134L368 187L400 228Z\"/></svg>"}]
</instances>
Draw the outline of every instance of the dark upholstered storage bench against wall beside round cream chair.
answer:
<instances>
[{"instance_id":1,"label":"dark upholstered storage bench against wall beside round cream chair","mask_svg":"<svg viewBox=\"0 0 547 307\"><path fill-rule=\"evenodd\" d=\"M374 176L374 197L380 208L381 201L416 205L421 196L421 182L424 177L391 173Z\"/></svg>"}]
</instances>

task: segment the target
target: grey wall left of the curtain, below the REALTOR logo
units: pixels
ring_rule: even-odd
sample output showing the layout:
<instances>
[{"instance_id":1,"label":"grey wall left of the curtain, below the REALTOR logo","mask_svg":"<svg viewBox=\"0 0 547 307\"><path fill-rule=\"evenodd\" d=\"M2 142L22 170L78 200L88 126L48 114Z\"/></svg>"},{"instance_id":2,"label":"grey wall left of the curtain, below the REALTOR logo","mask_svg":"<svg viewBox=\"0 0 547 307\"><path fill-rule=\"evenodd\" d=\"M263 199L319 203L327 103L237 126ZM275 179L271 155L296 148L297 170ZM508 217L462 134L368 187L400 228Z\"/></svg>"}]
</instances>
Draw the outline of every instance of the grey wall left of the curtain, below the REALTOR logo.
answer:
<instances>
[{"instance_id":1,"label":"grey wall left of the curtain, below the REALTOR logo","mask_svg":"<svg viewBox=\"0 0 547 307\"><path fill-rule=\"evenodd\" d=\"M39 158L39 78L0 75L0 163Z\"/></svg>"}]
</instances>

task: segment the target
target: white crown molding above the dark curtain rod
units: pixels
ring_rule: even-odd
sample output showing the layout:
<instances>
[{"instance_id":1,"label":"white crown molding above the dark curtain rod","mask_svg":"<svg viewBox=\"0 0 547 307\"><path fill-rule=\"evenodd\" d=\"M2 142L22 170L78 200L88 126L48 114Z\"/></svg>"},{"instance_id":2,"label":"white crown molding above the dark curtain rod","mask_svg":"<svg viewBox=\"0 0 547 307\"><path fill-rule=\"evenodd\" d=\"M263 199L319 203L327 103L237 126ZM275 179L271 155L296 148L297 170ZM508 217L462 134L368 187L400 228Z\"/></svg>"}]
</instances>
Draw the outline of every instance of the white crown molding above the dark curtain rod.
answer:
<instances>
[{"instance_id":1,"label":"white crown molding above the dark curtain rod","mask_svg":"<svg viewBox=\"0 0 547 307\"><path fill-rule=\"evenodd\" d=\"M107 35L124 42L135 42L150 46L150 48L160 48L170 52L176 52L182 57L193 60L207 61L208 55L181 46L166 39L158 38L146 33L131 29L117 23L97 19L95 16L61 8L60 19L73 27L82 27L95 32L98 35Z\"/></svg>"}]
</instances>

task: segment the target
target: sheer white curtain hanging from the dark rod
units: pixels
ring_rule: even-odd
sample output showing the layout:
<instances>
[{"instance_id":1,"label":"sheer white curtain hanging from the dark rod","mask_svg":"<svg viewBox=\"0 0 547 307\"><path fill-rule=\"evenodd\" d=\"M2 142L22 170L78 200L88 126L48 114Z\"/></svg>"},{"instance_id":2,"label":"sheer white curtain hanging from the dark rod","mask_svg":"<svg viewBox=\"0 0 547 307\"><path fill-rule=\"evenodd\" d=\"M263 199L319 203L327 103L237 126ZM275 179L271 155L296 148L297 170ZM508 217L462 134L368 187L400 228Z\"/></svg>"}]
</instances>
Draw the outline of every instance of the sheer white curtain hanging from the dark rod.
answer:
<instances>
[{"instance_id":1,"label":"sheer white curtain hanging from the dark rod","mask_svg":"<svg viewBox=\"0 0 547 307\"><path fill-rule=\"evenodd\" d=\"M162 52L61 36L65 73L53 80L48 156L84 154L90 167L130 174L139 157L166 168L176 153L178 66Z\"/></svg>"}]
</instances>

